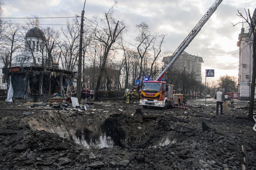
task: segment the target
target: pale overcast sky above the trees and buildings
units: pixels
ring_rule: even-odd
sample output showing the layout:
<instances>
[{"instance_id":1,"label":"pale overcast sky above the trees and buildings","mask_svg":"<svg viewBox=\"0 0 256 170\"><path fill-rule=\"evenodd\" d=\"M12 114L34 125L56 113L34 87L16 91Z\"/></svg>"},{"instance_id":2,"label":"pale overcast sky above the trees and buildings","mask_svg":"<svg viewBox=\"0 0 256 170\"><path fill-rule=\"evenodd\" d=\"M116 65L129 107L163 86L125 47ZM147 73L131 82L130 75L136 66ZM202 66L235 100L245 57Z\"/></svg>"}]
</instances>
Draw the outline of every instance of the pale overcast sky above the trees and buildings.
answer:
<instances>
[{"instance_id":1,"label":"pale overcast sky above the trees and buildings","mask_svg":"<svg viewBox=\"0 0 256 170\"><path fill-rule=\"evenodd\" d=\"M138 34L135 25L145 22L152 33L166 34L162 51L175 51L188 33L196 26L205 12L215 0L118 0L115 7L115 18L129 26L125 41L135 44ZM84 0L5 0L3 17L22 18L30 15L42 17L74 17L81 16ZM113 6L113 0L87 0L84 17L103 18L103 13ZM245 16L244 9L253 14L255 0L223 0L211 18L203 26L194 40L185 49L191 55L203 58L202 77L205 69L214 69L215 77L207 81L219 79L226 74L238 75L238 34L242 22L237 10ZM8 20L8 19L6 19ZM24 23L24 19L11 19L13 23ZM43 24L66 24L66 18L40 19ZM60 26L51 26L59 27ZM244 28L248 25L244 24ZM46 26L45 26L46 27Z\"/></svg>"}]
</instances>

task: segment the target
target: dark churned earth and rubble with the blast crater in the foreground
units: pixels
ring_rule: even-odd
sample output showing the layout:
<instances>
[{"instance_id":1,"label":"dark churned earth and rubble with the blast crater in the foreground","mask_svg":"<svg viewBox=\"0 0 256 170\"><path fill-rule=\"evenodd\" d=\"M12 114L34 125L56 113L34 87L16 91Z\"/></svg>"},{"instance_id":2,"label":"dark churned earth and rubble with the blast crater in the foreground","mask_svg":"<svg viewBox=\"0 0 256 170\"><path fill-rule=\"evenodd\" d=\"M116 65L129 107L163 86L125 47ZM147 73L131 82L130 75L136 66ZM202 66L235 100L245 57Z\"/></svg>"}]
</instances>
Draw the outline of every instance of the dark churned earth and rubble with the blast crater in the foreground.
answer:
<instances>
[{"instance_id":1,"label":"dark churned earth and rubble with the blast crater in the foreground","mask_svg":"<svg viewBox=\"0 0 256 170\"><path fill-rule=\"evenodd\" d=\"M0 104L1 169L236 170L242 145L256 169L255 122L244 106L216 115L213 100L167 110L122 101L87 102L87 109L32 105Z\"/></svg>"}]
</instances>

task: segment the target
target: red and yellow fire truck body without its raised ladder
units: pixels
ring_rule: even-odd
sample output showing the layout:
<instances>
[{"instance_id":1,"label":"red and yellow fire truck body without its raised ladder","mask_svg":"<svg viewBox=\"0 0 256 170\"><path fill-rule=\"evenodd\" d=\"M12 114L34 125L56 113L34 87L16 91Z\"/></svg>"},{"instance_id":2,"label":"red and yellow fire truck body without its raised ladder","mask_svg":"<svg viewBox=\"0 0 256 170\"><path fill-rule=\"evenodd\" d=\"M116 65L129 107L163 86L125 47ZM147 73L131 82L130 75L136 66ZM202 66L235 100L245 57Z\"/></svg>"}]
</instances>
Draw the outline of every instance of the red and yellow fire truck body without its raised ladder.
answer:
<instances>
[{"instance_id":1,"label":"red and yellow fire truck body without its raised ladder","mask_svg":"<svg viewBox=\"0 0 256 170\"><path fill-rule=\"evenodd\" d=\"M165 81L144 81L141 85L140 104L144 108L179 105L183 100L183 94L174 94L173 85Z\"/></svg>"}]
</instances>

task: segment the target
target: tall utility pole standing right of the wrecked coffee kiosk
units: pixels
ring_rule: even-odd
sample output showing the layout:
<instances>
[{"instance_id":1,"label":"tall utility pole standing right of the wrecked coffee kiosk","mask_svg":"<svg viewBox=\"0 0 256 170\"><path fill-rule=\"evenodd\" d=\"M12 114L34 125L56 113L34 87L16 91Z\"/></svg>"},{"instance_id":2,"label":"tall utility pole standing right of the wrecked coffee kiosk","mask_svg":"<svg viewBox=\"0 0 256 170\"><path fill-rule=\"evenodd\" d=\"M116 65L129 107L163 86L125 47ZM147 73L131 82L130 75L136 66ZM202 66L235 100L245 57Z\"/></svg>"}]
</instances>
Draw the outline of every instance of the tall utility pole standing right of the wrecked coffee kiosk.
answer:
<instances>
[{"instance_id":1,"label":"tall utility pole standing right of the wrecked coffee kiosk","mask_svg":"<svg viewBox=\"0 0 256 170\"><path fill-rule=\"evenodd\" d=\"M84 1L84 6L85 6L85 1ZM78 71L77 71L77 81L76 81L76 97L78 99L79 104L81 104L83 27L84 27L84 10L82 11L82 15L81 15L81 29L80 29L80 42L79 42L79 54L78 54Z\"/></svg>"}]
</instances>

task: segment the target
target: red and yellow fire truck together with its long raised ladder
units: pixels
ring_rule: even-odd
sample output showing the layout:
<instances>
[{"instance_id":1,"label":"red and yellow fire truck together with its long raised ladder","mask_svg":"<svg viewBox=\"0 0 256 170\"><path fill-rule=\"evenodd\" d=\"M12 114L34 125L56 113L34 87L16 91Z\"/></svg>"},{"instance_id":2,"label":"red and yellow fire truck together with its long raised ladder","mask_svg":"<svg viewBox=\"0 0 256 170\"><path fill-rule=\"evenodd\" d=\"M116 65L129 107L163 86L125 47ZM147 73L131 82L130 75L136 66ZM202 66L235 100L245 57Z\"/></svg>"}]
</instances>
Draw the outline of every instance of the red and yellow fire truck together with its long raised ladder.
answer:
<instances>
[{"instance_id":1,"label":"red and yellow fire truck together with its long raised ladder","mask_svg":"<svg viewBox=\"0 0 256 170\"><path fill-rule=\"evenodd\" d=\"M168 61L164 63L162 70L159 70L156 73L152 81L144 81L142 83L139 105L142 105L143 107L151 106L167 108L170 105L179 105L181 103L183 95L174 94L173 85L169 85L166 83L166 81L164 81L164 75L172 64L179 58L180 54L185 50L185 48L188 47L188 44L196 37L221 2L222 0L215 0L215 2L188 34L185 40L172 53Z\"/></svg>"}]
</instances>

